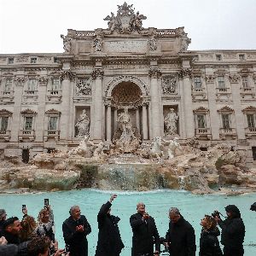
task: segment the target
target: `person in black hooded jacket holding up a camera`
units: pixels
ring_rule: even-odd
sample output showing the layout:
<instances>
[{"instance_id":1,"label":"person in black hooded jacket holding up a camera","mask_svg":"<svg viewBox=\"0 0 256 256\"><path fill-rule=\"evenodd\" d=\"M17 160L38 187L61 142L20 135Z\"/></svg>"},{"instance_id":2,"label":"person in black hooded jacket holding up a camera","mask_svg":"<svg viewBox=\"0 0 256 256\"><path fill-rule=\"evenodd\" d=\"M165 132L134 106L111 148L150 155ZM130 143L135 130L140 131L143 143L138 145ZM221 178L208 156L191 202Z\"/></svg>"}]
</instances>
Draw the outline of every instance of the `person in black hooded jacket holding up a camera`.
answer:
<instances>
[{"instance_id":1,"label":"person in black hooded jacket holding up a camera","mask_svg":"<svg viewBox=\"0 0 256 256\"><path fill-rule=\"evenodd\" d=\"M230 205L225 207L228 218L224 221L216 216L219 227L222 229L221 243L224 245L224 256L242 256L245 226L239 209Z\"/></svg>"}]
</instances>

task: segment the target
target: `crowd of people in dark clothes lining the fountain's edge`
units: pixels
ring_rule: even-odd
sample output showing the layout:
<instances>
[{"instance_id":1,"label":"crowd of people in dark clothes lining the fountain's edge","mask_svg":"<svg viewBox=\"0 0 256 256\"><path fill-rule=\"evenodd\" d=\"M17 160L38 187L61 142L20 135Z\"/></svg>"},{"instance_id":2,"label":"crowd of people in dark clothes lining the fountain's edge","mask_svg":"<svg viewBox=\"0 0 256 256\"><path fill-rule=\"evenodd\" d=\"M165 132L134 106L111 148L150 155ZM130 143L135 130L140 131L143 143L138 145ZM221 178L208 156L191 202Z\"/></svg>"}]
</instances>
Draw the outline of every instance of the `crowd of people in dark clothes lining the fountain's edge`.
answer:
<instances>
[{"instance_id":1,"label":"crowd of people in dark clothes lining the fountain's edge","mask_svg":"<svg viewBox=\"0 0 256 256\"><path fill-rule=\"evenodd\" d=\"M97 215L98 241L95 256L119 256L125 247L119 232L119 220L111 214L113 200L102 205ZM245 226L241 213L235 205L225 207L227 217L222 219L219 212L201 219L200 256L242 256ZM38 214L38 221L27 214L7 218L4 209L0 209L0 255L1 256L87 256L87 236L91 232L88 220L81 214L79 206L73 206L69 218L62 224L65 249L58 248L55 240L54 214L46 205ZM160 245L164 252L172 256L195 256L195 230L177 207L169 210L169 228L166 237L160 237L154 218L146 212L143 202L137 203L137 212L131 215L130 224L133 233L131 256L158 256ZM220 228L220 230L218 229ZM223 251L218 241L221 235ZM165 254L166 255L166 254Z\"/></svg>"}]
</instances>

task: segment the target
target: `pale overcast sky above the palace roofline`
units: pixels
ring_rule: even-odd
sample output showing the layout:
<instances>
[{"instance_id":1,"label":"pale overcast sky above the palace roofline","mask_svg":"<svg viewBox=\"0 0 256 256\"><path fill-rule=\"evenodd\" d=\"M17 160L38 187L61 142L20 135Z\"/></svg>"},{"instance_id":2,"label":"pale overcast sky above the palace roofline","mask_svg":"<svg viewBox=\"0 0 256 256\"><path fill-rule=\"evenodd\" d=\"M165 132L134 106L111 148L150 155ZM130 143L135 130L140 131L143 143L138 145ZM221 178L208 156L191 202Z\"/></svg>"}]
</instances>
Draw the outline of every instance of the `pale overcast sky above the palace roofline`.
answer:
<instances>
[{"instance_id":1,"label":"pale overcast sky above the palace roofline","mask_svg":"<svg viewBox=\"0 0 256 256\"><path fill-rule=\"evenodd\" d=\"M0 54L60 53L67 29L108 27L125 0L0 0ZM256 0L126 0L143 27L184 26L189 49L256 49Z\"/></svg>"}]
</instances>

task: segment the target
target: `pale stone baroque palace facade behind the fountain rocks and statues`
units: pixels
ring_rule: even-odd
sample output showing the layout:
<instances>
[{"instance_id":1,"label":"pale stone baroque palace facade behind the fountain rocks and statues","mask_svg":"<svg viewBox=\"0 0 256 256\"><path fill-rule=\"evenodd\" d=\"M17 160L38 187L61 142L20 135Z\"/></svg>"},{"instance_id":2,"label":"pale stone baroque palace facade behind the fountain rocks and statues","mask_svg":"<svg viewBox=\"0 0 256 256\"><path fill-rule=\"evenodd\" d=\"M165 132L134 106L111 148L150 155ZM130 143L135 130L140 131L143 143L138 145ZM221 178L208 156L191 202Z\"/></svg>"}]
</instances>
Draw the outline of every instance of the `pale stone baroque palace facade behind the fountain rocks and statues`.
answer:
<instances>
[{"instance_id":1,"label":"pale stone baroque palace facade behind the fountain rocks and statues","mask_svg":"<svg viewBox=\"0 0 256 256\"><path fill-rule=\"evenodd\" d=\"M81 131L111 143L128 108L142 142L167 135L172 111L181 143L227 142L253 163L256 50L190 51L183 27L143 28L145 19L124 3L108 28L61 35L62 54L0 55L0 150L26 161L73 148Z\"/></svg>"}]
</instances>

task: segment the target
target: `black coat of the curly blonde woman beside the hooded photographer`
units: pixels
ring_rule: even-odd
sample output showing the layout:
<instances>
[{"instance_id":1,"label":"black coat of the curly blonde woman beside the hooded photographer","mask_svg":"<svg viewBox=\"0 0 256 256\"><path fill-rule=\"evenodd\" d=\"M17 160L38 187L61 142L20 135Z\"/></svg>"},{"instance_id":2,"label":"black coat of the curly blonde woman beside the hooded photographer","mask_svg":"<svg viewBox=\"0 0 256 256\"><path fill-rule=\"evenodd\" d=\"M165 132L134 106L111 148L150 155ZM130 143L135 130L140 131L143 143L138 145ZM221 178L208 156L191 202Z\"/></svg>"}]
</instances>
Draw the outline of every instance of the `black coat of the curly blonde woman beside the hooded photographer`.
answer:
<instances>
[{"instance_id":1,"label":"black coat of the curly blonde woman beside the hooded photographer","mask_svg":"<svg viewBox=\"0 0 256 256\"><path fill-rule=\"evenodd\" d=\"M219 247L219 230L201 230L199 256L222 256Z\"/></svg>"}]
</instances>

